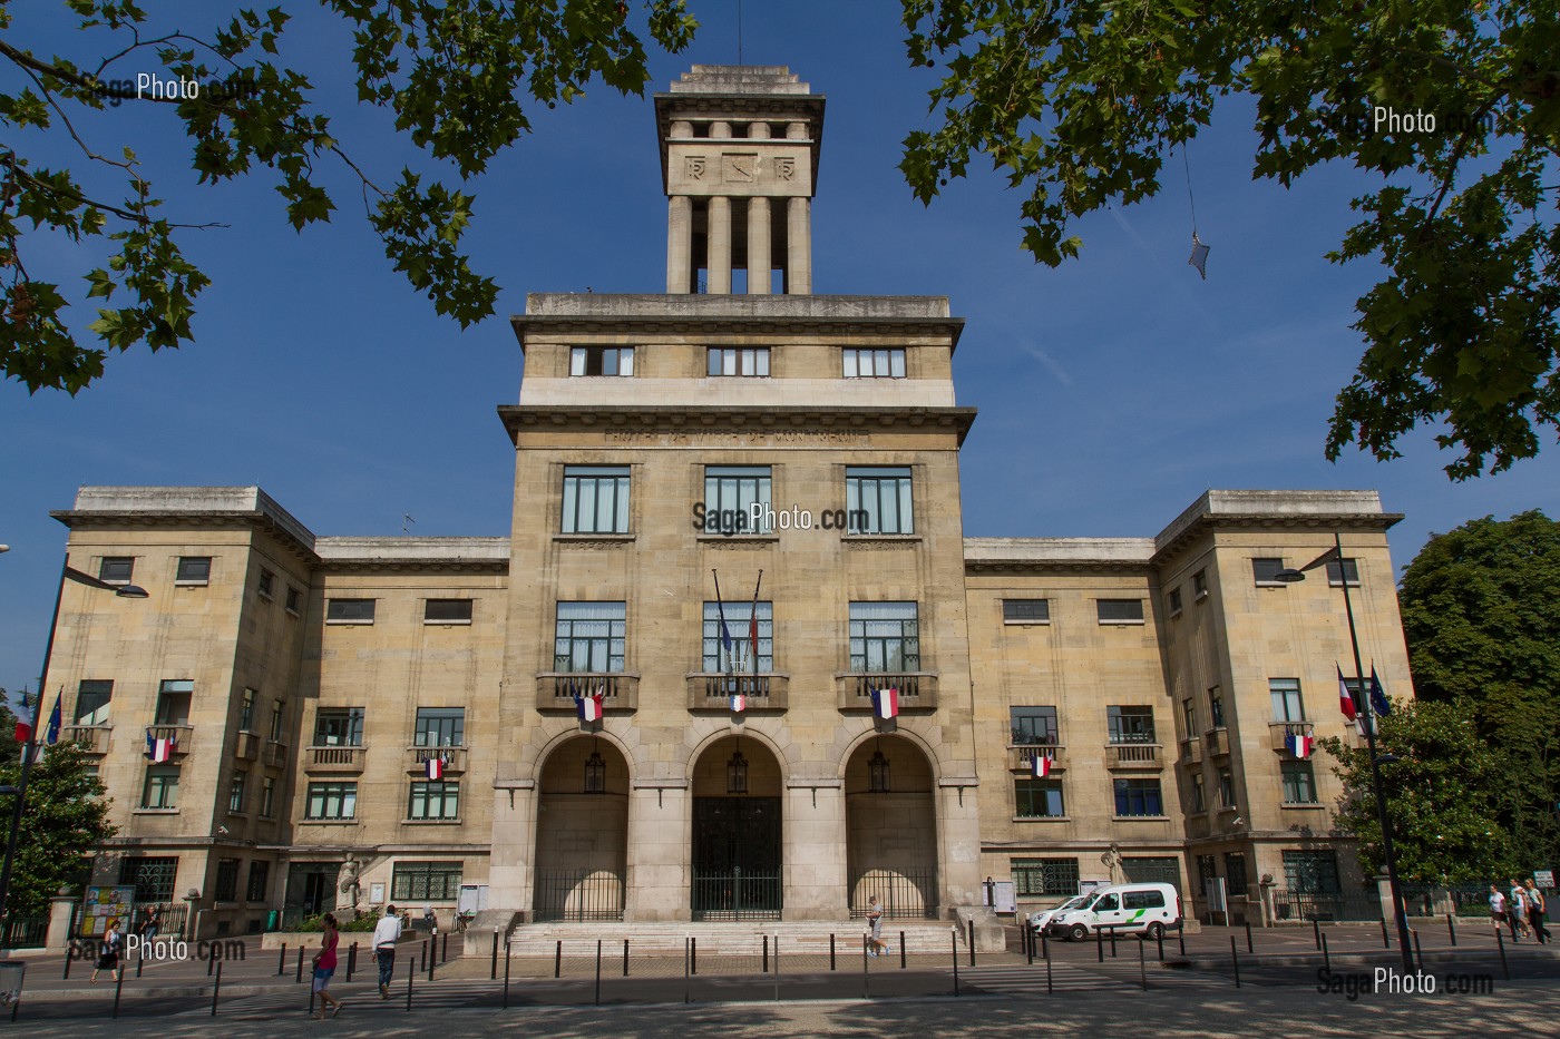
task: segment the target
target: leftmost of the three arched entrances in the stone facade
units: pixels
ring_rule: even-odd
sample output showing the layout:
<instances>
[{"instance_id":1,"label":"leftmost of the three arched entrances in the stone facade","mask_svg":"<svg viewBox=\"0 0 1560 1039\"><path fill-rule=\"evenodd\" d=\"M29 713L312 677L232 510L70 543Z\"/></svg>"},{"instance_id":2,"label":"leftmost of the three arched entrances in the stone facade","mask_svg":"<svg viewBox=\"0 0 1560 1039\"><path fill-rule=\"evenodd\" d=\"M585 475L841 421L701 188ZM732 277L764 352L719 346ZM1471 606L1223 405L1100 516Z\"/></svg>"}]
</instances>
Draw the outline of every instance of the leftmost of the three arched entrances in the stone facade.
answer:
<instances>
[{"instance_id":1,"label":"leftmost of the three arched entrances in the stone facade","mask_svg":"<svg viewBox=\"0 0 1560 1039\"><path fill-rule=\"evenodd\" d=\"M629 863L629 763L612 743L574 736L541 769L537 920L621 920Z\"/></svg>"}]
</instances>

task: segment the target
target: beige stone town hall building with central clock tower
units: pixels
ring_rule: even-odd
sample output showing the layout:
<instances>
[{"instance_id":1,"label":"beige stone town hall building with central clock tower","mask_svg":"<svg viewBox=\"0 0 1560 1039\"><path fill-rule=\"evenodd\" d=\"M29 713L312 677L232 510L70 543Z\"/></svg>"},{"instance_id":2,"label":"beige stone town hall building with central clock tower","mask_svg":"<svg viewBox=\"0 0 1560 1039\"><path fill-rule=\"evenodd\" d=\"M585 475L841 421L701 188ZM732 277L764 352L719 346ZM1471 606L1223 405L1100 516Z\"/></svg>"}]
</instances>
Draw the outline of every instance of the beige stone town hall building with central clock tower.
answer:
<instances>
[{"instance_id":1,"label":"beige stone town hall building with central clock tower","mask_svg":"<svg viewBox=\"0 0 1560 1039\"><path fill-rule=\"evenodd\" d=\"M1154 537L966 538L963 318L813 292L824 97L696 67L655 115L666 295L513 318L509 537L323 537L256 487L55 513L73 566L150 591L67 583L48 669L114 799L94 881L195 889L209 934L463 886L484 922L839 920L874 891L942 917L986 878L1020 905L1162 878L1201 911L1217 877L1237 914L1264 875L1360 891L1328 758L1284 736L1345 733L1345 579L1409 690L1399 516L1209 491ZM1342 565L1273 579L1334 532Z\"/></svg>"}]
</instances>

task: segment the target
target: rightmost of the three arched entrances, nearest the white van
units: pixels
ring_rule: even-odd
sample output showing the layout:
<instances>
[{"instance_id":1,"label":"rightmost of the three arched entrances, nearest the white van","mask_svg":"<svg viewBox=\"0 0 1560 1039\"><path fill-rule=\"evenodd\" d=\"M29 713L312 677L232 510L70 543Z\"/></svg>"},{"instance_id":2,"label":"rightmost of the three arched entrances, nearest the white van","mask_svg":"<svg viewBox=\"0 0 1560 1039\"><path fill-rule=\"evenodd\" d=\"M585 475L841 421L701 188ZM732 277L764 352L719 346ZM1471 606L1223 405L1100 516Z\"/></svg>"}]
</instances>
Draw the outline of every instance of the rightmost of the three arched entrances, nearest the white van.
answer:
<instances>
[{"instance_id":1,"label":"rightmost of the three arched entrances, nearest the white van","mask_svg":"<svg viewBox=\"0 0 1560 1039\"><path fill-rule=\"evenodd\" d=\"M850 916L878 897L885 916L936 919L938 811L931 763L909 739L874 736L846 764Z\"/></svg>"}]
</instances>

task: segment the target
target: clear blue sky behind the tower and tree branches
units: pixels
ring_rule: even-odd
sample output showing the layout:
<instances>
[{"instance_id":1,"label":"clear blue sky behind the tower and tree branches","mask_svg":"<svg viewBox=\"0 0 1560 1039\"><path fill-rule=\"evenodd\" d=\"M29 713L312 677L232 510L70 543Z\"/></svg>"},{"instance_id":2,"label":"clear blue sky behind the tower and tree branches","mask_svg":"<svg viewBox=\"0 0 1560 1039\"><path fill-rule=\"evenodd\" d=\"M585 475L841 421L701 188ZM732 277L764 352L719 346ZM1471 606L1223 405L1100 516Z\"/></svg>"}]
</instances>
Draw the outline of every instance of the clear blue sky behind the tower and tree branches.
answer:
<instances>
[{"instance_id":1,"label":"clear blue sky behind the tower and tree branches","mask_svg":"<svg viewBox=\"0 0 1560 1039\"><path fill-rule=\"evenodd\" d=\"M382 112L357 106L340 23L287 6L300 17L284 59L320 87L343 147L385 183L404 164L434 168ZM911 198L895 165L903 136L927 122L931 75L908 69L899 6L750 0L743 59L789 66L828 97L814 290L947 295L967 321L953 367L959 402L981 410L963 452L967 535L1148 537L1209 487L1379 488L1407 515L1392 534L1402 565L1431 532L1473 516L1560 515L1552 437L1548 457L1462 485L1443 474L1451 459L1431 432L1392 463L1323 459L1332 396L1362 351L1354 300L1379 273L1324 253L1365 175L1324 168L1290 190L1253 181L1251 109L1234 100L1189 153L1207 281L1186 264L1179 158L1158 198L1080 223L1081 261L1036 265L1019 250L1020 197L1000 178L977 170L930 209ZM218 5L153 8L158 25L204 31ZM735 6L693 8L696 44L655 58L649 90L694 62L736 62ZM59 11L25 5L8 39L78 59L105 51L100 37L62 31ZM0 76L16 86L9 67ZM404 513L418 535L507 534L513 448L495 407L519 390L509 315L527 292L665 289L651 101L597 87L532 119L534 133L471 184L466 243L502 295L496 317L465 331L390 270L343 172L329 178L335 222L300 236L264 172L197 186L161 106L80 120L98 150L140 153L175 218L232 226L184 237L214 279L195 345L111 357L75 398L0 384L0 541L11 544L0 555L0 686L36 685L66 543L48 512L70 507L83 484L259 484L321 535L399 534ZM80 165L58 142L34 153ZM34 273L67 284L100 262L67 243L30 248ZM78 328L95 317L76 310Z\"/></svg>"}]
</instances>

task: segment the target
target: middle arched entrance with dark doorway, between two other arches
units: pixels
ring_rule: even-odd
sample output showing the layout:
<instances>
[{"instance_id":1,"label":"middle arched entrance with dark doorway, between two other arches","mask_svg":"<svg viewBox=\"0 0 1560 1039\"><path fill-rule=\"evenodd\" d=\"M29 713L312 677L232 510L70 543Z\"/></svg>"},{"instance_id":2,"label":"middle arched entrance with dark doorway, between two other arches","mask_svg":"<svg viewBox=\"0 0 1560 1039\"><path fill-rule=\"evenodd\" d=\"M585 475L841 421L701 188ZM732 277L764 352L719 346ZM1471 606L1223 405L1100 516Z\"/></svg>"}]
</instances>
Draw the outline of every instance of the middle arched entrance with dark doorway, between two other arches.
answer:
<instances>
[{"instance_id":1,"label":"middle arched entrance with dark doorway, between two other arches","mask_svg":"<svg viewBox=\"0 0 1560 1039\"><path fill-rule=\"evenodd\" d=\"M693 772L696 920L778 920L780 761L757 739L710 744Z\"/></svg>"}]
</instances>

